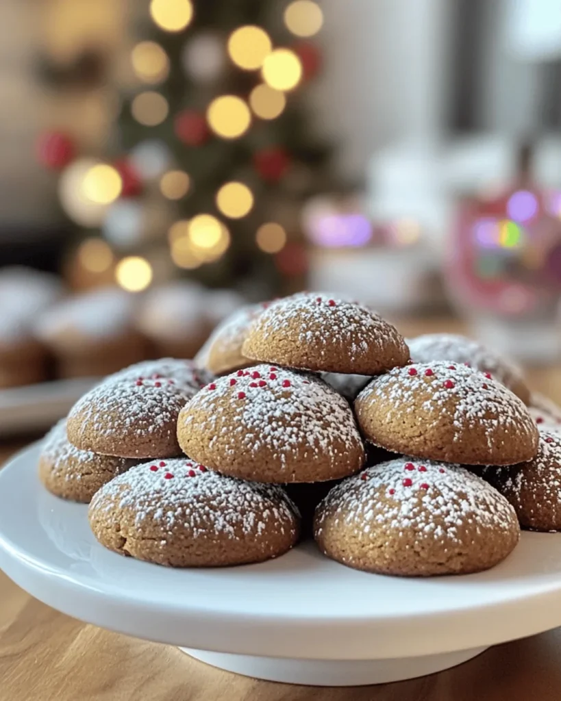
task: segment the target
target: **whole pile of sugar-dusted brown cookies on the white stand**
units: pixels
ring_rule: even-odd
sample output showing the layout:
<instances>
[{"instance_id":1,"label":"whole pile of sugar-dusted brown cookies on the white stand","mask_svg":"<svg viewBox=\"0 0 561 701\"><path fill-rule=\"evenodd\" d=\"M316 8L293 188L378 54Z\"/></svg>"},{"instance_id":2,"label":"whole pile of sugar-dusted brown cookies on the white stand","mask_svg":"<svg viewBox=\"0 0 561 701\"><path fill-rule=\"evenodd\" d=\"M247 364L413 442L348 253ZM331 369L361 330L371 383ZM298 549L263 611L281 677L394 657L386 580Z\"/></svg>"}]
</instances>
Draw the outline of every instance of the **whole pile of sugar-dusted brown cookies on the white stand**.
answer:
<instances>
[{"instance_id":1,"label":"whole pile of sugar-dusted brown cookies on the white stand","mask_svg":"<svg viewBox=\"0 0 561 701\"><path fill-rule=\"evenodd\" d=\"M48 437L41 477L91 499L102 545L148 562L261 562L310 530L327 557L365 571L487 569L518 543L517 514L535 527L512 485L553 441L500 359L481 372L487 354L462 360L466 339L442 351L460 360L416 341L424 358L328 294L246 308L198 356L206 367L140 363L82 397Z\"/></svg>"}]
</instances>

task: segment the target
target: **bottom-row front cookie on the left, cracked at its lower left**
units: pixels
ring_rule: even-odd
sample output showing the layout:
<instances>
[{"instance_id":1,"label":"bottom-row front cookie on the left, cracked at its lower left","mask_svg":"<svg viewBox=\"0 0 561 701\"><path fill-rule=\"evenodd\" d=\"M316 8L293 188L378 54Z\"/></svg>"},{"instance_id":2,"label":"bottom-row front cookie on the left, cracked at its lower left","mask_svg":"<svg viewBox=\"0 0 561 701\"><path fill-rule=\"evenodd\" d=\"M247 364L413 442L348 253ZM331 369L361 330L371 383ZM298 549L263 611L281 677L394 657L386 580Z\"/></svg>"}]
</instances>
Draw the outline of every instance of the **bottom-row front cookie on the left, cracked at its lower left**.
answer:
<instances>
[{"instance_id":1,"label":"bottom-row front cookie on the left, cracked at its lower left","mask_svg":"<svg viewBox=\"0 0 561 701\"><path fill-rule=\"evenodd\" d=\"M290 550L299 534L280 486L224 477L187 458L137 465L111 480L89 519L109 550L173 567L263 562Z\"/></svg>"}]
</instances>

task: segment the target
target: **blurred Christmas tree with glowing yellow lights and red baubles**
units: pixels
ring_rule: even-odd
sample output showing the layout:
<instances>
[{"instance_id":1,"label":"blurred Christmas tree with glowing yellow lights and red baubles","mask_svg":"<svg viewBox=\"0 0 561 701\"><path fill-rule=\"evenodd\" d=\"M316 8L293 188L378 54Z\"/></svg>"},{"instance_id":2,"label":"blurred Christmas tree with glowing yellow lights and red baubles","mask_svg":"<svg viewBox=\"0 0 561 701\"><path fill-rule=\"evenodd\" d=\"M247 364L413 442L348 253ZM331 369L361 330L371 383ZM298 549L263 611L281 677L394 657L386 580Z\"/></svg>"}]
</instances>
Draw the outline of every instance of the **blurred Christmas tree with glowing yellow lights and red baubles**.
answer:
<instances>
[{"instance_id":1,"label":"blurred Christmas tree with glowing yellow lights and red baubles","mask_svg":"<svg viewBox=\"0 0 561 701\"><path fill-rule=\"evenodd\" d=\"M119 90L109 154L86 157L58 132L41 139L41 161L62 169L62 207L94 230L79 259L114 266L130 290L177 268L266 292L303 275L299 210L333 185L302 104L320 69L309 39L320 7L151 0L134 13L133 79Z\"/></svg>"}]
</instances>

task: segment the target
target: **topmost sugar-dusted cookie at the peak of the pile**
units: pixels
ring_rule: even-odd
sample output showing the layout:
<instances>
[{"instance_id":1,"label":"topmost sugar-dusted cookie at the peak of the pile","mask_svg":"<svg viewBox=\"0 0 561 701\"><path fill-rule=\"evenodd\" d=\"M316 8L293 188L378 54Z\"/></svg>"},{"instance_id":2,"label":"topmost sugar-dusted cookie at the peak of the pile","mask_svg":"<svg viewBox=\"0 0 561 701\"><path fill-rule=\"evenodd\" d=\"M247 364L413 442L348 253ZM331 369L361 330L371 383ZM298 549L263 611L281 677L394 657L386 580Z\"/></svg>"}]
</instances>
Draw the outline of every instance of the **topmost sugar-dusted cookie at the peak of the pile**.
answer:
<instances>
[{"instance_id":1,"label":"topmost sugar-dusted cookie at the peak of the pile","mask_svg":"<svg viewBox=\"0 0 561 701\"><path fill-rule=\"evenodd\" d=\"M269 305L252 322L242 353L261 362L359 375L409 360L403 337L379 315L318 294L295 294Z\"/></svg>"}]
</instances>

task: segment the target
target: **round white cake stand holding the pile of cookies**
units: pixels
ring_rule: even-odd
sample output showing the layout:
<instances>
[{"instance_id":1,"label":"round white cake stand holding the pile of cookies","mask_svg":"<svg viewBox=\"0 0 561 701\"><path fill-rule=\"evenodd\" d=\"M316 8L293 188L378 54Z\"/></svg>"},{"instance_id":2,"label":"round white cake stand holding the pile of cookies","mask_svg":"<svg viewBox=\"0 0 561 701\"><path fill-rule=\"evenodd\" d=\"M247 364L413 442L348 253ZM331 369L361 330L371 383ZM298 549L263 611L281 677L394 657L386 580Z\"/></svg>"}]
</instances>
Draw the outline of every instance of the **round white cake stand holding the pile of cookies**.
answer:
<instances>
[{"instance_id":1,"label":"round white cake stand holding the pile of cookies","mask_svg":"<svg viewBox=\"0 0 561 701\"><path fill-rule=\"evenodd\" d=\"M524 533L491 571L374 576L313 543L259 565L173 570L105 550L87 507L48 494L39 449L0 472L0 566L68 615L180 646L215 667L293 683L409 679L561 625L561 537Z\"/></svg>"}]
</instances>

